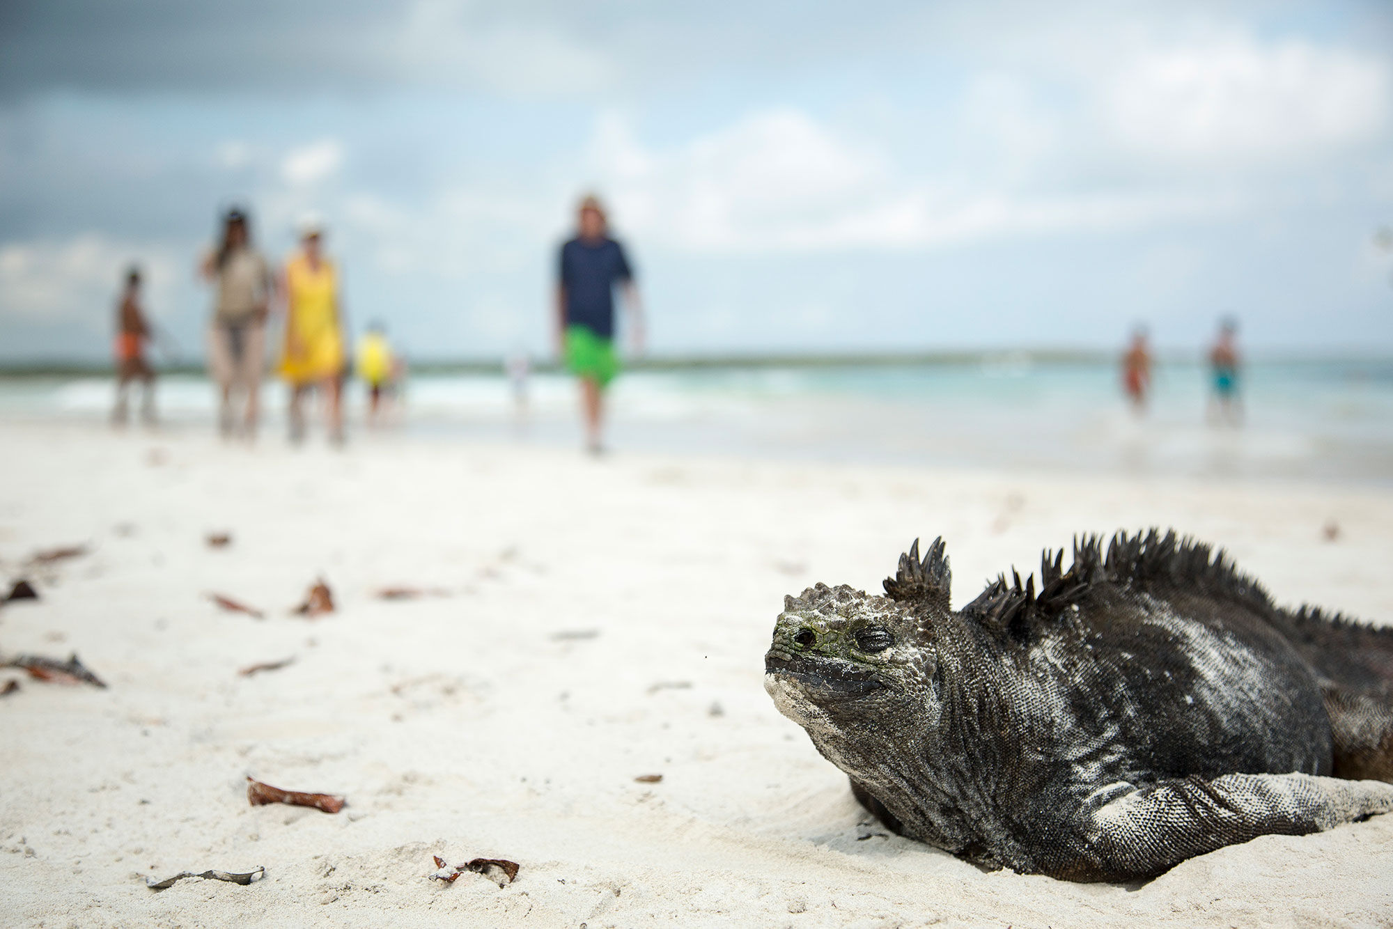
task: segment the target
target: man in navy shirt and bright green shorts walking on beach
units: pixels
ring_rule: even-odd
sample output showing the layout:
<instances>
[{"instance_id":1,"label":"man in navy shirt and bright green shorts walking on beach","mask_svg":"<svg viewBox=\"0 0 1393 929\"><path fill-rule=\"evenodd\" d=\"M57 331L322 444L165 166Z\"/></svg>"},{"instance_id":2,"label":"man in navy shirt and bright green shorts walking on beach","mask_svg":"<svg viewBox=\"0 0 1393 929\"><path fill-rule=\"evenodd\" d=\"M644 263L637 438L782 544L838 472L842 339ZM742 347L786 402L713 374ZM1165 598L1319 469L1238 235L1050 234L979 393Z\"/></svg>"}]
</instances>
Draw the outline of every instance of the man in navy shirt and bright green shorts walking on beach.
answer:
<instances>
[{"instance_id":1,"label":"man in navy shirt and bright green shorts walking on beach","mask_svg":"<svg viewBox=\"0 0 1393 929\"><path fill-rule=\"evenodd\" d=\"M624 290L632 323L634 351L644 350L644 312L634 272L623 247L609 237L605 208L593 196L579 206L579 230L561 247L556 287L556 341L566 366L581 379L585 440L592 453L600 443L605 387L618 373L614 352L614 286Z\"/></svg>"}]
</instances>

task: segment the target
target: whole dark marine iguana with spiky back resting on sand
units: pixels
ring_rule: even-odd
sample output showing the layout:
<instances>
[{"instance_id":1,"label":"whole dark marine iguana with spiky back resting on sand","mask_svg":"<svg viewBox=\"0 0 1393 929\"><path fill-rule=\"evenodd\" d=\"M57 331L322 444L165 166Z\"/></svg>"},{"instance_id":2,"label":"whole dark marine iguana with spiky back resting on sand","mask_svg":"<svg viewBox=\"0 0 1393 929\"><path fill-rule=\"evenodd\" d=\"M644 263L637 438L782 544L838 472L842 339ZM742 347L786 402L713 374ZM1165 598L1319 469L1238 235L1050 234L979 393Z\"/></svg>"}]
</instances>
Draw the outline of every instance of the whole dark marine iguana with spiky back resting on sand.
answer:
<instances>
[{"instance_id":1,"label":"whole dark marine iguana with spiky back resting on sand","mask_svg":"<svg viewBox=\"0 0 1393 929\"><path fill-rule=\"evenodd\" d=\"M1279 609L1174 532L1061 563L954 611L915 540L887 596L786 598L765 689L886 826L990 868L1141 880L1393 811L1393 628Z\"/></svg>"}]
</instances>

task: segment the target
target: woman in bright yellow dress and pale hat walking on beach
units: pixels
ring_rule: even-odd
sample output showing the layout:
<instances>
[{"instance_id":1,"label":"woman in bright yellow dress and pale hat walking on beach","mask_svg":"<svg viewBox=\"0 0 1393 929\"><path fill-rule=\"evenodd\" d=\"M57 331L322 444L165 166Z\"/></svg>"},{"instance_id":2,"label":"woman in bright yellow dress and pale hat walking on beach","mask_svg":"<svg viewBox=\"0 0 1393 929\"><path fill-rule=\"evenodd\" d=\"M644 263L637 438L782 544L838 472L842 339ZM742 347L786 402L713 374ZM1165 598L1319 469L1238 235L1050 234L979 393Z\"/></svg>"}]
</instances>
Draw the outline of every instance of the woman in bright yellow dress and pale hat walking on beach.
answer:
<instances>
[{"instance_id":1,"label":"woman in bright yellow dress and pale hat walking on beach","mask_svg":"<svg viewBox=\"0 0 1393 929\"><path fill-rule=\"evenodd\" d=\"M329 412L329 437L344 440L344 334L338 274L322 251L323 230L306 223L301 249L286 262L286 347L280 373L290 383L290 437L305 437L305 394L319 387Z\"/></svg>"}]
</instances>

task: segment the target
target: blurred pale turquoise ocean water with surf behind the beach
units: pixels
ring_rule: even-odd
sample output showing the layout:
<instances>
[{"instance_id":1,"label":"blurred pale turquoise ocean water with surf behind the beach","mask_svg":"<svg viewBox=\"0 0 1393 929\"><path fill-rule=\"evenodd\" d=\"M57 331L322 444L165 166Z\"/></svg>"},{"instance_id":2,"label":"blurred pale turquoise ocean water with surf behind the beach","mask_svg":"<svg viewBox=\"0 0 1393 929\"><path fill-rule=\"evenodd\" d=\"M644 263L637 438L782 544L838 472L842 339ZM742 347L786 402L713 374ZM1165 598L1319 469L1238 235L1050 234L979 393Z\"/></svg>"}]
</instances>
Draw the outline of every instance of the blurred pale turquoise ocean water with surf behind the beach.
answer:
<instances>
[{"instance_id":1,"label":"blurred pale turquoise ocean water with surf behind the beach","mask_svg":"<svg viewBox=\"0 0 1393 929\"><path fill-rule=\"evenodd\" d=\"M0 379L0 416L104 422L106 377ZM503 376L421 375L397 430L422 437L579 442L575 386L527 383L520 415ZM348 391L359 437L361 386ZM267 437L284 430L284 389L267 383ZM1105 364L1031 362L841 368L699 368L623 375L610 394L610 446L678 454L893 462L993 469L1393 483L1393 361L1259 362L1243 379L1241 428L1206 422L1208 380L1160 365L1144 416ZM210 429L202 377L159 384L167 429ZM371 440L386 440L379 432Z\"/></svg>"}]
</instances>

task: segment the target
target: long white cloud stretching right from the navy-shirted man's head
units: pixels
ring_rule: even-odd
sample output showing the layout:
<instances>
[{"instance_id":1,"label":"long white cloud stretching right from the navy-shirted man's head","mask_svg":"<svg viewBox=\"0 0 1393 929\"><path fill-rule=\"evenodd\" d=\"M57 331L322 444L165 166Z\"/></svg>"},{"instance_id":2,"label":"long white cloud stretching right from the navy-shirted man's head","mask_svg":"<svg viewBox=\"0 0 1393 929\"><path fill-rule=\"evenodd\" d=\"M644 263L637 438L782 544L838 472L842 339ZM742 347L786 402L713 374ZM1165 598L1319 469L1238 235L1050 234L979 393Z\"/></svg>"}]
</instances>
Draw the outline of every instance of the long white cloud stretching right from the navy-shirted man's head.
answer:
<instances>
[{"instance_id":1,"label":"long white cloud stretching right from the navy-shirted man's head","mask_svg":"<svg viewBox=\"0 0 1393 929\"><path fill-rule=\"evenodd\" d=\"M947 184L793 110L751 116L666 152L645 149L607 116L591 159L623 230L699 252L933 248L1137 228L1241 206L1237 195L1208 191Z\"/></svg>"}]
</instances>

